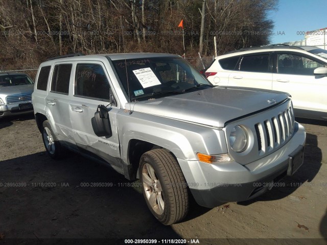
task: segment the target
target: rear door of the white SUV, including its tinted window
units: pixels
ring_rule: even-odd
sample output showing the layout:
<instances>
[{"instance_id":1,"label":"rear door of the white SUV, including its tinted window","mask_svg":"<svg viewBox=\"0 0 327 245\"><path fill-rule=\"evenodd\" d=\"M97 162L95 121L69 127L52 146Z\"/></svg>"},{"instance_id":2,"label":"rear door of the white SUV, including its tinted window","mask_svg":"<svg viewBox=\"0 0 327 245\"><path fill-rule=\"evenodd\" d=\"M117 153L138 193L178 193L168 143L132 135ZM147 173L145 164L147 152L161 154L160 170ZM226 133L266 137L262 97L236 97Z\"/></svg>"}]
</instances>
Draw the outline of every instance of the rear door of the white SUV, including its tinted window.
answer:
<instances>
[{"instance_id":1,"label":"rear door of the white SUV, including its tinted window","mask_svg":"<svg viewBox=\"0 0 327 245\"><path fill-rule=\"evenodd\" d=\"M256 53L241 57L228 77L229 86L272 88L272 60L270 53Z\"/></svg>"}]
</instances>

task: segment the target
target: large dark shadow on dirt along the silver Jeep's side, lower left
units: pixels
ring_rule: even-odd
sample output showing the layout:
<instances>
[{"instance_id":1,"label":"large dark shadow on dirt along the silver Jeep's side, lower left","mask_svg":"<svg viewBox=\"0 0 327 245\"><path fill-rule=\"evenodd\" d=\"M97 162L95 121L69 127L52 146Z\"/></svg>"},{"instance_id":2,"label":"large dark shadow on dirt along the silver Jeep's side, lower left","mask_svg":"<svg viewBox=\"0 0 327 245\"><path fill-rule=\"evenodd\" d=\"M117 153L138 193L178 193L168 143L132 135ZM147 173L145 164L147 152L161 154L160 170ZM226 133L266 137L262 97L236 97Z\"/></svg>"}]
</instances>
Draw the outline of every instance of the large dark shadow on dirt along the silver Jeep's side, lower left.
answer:
<instances>
[{"instance_id":1,"label":"large dark shadow on dirt along the silver Jeep's side, lower left","mask_svg":"<svg viewBox=\"0 0 327 245\"><path fill-rule=\"evenodd\" d=\"M139 182L109 167L75 154L55 161L45 152L0 167L6 238L180 238L148 210Z\"/></svg>"}]
</instances>

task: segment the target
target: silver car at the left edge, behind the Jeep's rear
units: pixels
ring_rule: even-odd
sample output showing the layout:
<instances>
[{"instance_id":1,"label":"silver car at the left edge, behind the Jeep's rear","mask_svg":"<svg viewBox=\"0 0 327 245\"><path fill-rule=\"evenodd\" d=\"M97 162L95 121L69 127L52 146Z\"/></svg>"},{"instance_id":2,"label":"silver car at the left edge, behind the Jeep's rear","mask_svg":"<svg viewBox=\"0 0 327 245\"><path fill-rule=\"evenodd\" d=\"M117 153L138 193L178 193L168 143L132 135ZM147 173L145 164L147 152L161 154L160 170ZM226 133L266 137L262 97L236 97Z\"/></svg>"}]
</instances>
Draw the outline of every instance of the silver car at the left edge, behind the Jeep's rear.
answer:
<instances>
[{"instance_id":1,"label":"silver car at the left edge, behind the Jeep's rear","mask_svg":"<svg viewBox=\"0 0 327 245\"><path fill-rule=\"evenodd\" d=\"M33 89L27 74L0 72L0 117L33 112Z\"/></svg>"}]
</instances>

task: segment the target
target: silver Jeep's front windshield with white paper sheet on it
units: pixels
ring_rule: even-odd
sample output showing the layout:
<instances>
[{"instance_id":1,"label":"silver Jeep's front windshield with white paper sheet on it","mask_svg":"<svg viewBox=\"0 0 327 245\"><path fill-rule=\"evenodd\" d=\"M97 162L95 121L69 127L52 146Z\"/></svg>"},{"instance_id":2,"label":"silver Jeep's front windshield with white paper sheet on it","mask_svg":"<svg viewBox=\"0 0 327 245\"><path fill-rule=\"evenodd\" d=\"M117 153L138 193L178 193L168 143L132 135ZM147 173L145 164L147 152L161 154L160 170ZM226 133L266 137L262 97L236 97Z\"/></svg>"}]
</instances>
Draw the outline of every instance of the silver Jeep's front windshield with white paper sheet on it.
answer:
<instances>
[{"instance_id":1,"label":"silver Jeep's front windshield with white paper sheet on it","mask_svg":"<svg viewBox=\"0 0 327 245\"><path fill-rule=\"evenodd\" d=\"M179 57L115 60L113 65L131 101L212 87L192 65Z\"/></svg>"}]
</instances>

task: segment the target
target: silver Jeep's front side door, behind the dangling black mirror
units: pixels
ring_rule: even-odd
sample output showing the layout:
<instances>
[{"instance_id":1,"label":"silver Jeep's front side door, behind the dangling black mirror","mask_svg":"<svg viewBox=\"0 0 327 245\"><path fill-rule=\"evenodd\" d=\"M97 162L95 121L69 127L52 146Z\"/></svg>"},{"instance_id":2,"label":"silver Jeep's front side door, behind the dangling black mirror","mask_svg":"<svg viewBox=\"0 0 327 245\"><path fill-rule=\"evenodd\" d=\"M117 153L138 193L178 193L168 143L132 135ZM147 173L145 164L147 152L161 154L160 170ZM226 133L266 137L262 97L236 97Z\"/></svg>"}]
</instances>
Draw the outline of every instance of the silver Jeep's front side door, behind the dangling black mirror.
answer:
<instances>
[{"instance_id":1,"label":"silver Jeep's front side door, behind the dangling black mirror","mask_svg":"<svg viewBox=\"0 0 327 245\"><path fill-rule=\"evenodd\" d=\"M87 61L76 64L74 68L74 96L69 103L69 115L76 145L82 152L93 154L112 165L120 165L120 150L116 113L119 107L109 105L109 76L102 62ZM114 95L113 95L114 96ZM117 100L116 100L117 101ZM92 128L91 118L95 116L98 105L108 108L112 135L98 137Z\"/></svg>"}]
</instances>

